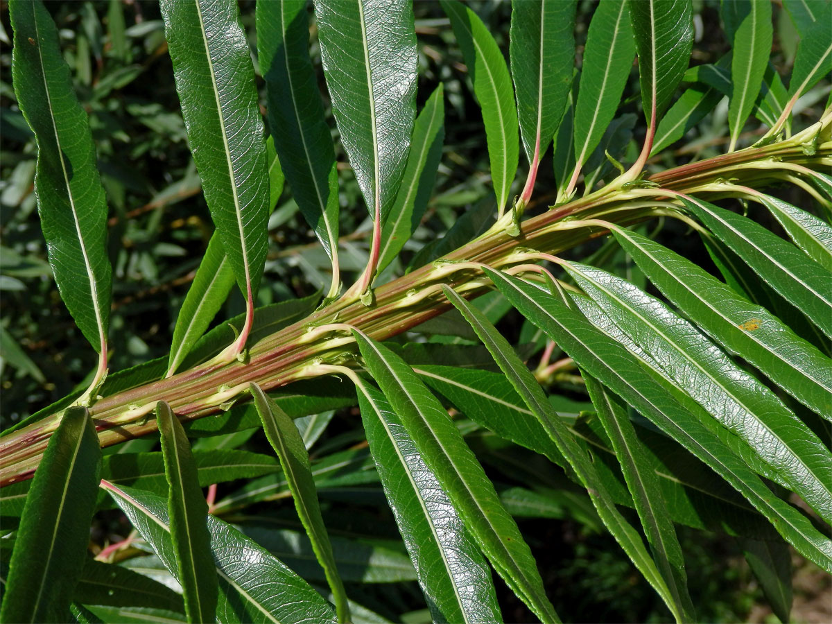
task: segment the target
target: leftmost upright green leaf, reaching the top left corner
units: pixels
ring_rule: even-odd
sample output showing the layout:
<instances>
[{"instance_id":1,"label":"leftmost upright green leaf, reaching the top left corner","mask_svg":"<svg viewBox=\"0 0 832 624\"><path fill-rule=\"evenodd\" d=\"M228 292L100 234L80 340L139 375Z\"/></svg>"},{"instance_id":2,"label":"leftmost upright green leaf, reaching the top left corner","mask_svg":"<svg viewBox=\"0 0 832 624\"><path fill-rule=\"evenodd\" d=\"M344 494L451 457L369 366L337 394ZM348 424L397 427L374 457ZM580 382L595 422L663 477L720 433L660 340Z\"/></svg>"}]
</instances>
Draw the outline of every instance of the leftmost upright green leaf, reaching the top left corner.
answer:
<instances>
[{"instance_id":1,"label":"leftmost upright green leaf, reaching the top left corner","mask_svg":"<svg viewBox=\"0 0 832 624\"><path fill-rule=\"evenodd\" d=\"M35 192L49 265L72 318L106 363L107 207L87 113L72 89L57 28L43 3L11 2L9 17L17 104L37 138Z\"/></svg>"}]
</instances>

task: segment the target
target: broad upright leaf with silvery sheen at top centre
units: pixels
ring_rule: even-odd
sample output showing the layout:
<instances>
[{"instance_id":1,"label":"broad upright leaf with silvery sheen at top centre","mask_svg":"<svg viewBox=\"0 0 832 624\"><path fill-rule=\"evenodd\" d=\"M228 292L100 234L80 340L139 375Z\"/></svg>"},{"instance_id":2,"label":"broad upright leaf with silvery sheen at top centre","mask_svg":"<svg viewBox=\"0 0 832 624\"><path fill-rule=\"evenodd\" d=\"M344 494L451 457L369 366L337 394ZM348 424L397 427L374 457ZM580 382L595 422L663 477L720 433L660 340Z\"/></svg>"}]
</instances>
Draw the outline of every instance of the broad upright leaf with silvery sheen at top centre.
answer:
<instances>
[{"instance_id":1,"label":"broad upright leaf with silvery sheen at top centre","mask_svg":"<svg viewBox=\"0 0 832 624\"><path fill-rule=\"evenodd\" d=\"M416 116L416 33L404 0L317 0L326 86L370 218L384 221Z\"/></svg>"}]
</instances>

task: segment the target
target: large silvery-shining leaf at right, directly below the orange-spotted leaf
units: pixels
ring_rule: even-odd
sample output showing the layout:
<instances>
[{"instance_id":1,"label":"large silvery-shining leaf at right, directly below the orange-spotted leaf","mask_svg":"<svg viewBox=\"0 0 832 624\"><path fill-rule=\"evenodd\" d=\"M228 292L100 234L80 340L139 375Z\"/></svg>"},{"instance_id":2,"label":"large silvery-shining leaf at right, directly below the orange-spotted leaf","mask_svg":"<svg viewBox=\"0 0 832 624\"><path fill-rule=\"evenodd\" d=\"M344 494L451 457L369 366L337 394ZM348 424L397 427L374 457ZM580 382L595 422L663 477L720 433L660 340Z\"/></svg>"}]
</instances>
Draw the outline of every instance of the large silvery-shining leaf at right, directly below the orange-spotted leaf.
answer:
<instances>
[{"instance_id":1,"label":"large silvery-shining leaf at right, directly below the orange-spotted leaf","mask_svg":"<svg viewBox=\"0 0 832 624\"><path fill-rule=\"evenodd\" d=\"M810 428L716 344L661 301L606 271L569 263L578 285L613 323L790 488L832 522L832 454Z\"/></svg>"}]
</instances>

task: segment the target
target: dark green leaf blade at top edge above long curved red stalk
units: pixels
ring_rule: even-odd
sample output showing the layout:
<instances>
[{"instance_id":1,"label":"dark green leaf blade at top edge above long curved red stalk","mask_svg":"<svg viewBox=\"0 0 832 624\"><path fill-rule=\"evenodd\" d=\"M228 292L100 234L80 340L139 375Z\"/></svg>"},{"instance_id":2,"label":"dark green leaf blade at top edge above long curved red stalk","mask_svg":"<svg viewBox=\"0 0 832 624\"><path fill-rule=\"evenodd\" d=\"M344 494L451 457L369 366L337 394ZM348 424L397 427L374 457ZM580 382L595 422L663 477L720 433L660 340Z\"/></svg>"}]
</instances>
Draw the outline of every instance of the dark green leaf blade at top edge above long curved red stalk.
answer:
<instances>
[{"instance_id":1,"label":"dark green leaf blade at top edge above long curved red stalk","mask_svg":"<svg viewBox=\"0 0 832 624\"><path fill-rule=\"evenodd\" d=\"M691 0L628 0L636 36L641 106L655 127L691 58Z\"/></svg>"}]
</instances>

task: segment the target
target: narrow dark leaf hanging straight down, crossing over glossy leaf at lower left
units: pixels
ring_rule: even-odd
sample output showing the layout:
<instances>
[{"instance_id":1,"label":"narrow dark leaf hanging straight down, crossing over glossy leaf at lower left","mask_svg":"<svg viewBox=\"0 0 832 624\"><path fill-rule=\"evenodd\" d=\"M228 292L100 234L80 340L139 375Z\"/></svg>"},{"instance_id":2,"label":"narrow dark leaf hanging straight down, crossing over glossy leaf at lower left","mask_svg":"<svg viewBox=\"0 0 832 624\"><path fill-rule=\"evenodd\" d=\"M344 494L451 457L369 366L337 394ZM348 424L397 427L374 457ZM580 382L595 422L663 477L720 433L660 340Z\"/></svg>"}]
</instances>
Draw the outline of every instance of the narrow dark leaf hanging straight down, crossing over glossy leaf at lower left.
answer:
<instances>
[{"instance_id":1,"label":"narrow dark leaf hanging straight down, crossing over glossy leaf at lower left","mask_svg":"<svg viewBox=\"0 0 832 624\"><path fill-rule=\"evenodd\" d=\"M169 492L171 542L176 557L177 578L185 596L185 611L191 622L213 622L216 611L216 574L206 527L208 505L202 496L191 443L171 407L156 404L161 433L161 453Z\"/></svg>"}]
</instances>

